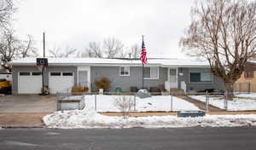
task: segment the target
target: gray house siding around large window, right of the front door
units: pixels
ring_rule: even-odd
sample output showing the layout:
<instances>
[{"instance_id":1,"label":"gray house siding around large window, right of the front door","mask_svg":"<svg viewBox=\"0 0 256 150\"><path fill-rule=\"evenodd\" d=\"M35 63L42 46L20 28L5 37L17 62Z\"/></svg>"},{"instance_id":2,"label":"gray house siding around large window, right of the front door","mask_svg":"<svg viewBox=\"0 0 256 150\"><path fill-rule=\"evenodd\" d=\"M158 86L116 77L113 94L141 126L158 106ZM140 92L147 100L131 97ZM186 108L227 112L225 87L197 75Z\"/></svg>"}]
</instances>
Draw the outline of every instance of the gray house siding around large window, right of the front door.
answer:
<instances>
[{"instance_id":1,"label":"gray house siding around large window, right of the front door","mask_svg":"<svg viewBox=\"0 0 256 150\"><path fill-rule=\"evenodd\" d=\"M197 69L205 69L205 68L197 68ZM190 68L178 68L178 72L182 72L183 76L178 75L178 88L181 87L181 81L185 81L187 85L187 91L195 90L202 91L205 89L215 89L215 90L224 90L224 82L218 76L212 76L212 82L201 82L201 83L191 83L189 78L189 70ZM178 74L179 74L178 73Z\"/></svg>"}]
</instances>

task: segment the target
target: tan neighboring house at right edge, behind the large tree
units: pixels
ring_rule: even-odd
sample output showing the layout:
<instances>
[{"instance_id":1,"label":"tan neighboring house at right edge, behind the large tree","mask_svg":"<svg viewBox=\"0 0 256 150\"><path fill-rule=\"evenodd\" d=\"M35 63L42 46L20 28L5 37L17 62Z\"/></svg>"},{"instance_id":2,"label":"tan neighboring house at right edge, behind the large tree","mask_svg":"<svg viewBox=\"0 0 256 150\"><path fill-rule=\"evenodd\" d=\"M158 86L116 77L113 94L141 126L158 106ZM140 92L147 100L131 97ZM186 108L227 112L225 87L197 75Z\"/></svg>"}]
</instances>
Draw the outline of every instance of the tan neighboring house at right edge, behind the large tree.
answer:
<instances>
[{"instance_id":1,"label":"tan neighboring house at right edge, behind the large tree","mask_svg":"<svg viewBox=\"0 0 256 150\"><path fill-rule=\"evenodd\" d=\"M256 92L256 61L247 61L241 77L236 81L235 90Z\"/></svg>"}]
</instances>

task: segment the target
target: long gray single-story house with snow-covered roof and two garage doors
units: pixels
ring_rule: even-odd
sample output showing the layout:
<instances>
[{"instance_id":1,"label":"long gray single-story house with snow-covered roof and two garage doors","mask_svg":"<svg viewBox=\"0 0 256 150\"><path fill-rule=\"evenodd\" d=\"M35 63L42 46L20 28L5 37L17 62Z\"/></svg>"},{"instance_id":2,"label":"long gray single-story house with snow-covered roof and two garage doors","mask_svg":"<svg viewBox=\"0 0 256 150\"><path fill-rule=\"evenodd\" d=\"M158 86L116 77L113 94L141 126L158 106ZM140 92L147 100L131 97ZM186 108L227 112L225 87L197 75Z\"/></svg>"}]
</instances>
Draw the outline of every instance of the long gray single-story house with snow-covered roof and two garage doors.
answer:
<instances>
[{"instance_id":1,"label":"long gray single-story house with snow-covered roof and two garage doors","mask_svg":"<svg viewBox=\"0 0 256 150\"><path fill-rule=\"evenodd\" d=\"M44 71L44 84L49 92L67 92L74 84L95 89L97 79L110 79L111 89L130 91L142 88L143 69L139 60L102 58L49 58ZM40 93L42 76L36 67L36 58L10 62L13 69L13 93ZM144 68L144 87L164 86L165 89L204 91L224 89L223 81L213 76L206 62L185 59L148 59Z\"/></svg>"}]
</instances>

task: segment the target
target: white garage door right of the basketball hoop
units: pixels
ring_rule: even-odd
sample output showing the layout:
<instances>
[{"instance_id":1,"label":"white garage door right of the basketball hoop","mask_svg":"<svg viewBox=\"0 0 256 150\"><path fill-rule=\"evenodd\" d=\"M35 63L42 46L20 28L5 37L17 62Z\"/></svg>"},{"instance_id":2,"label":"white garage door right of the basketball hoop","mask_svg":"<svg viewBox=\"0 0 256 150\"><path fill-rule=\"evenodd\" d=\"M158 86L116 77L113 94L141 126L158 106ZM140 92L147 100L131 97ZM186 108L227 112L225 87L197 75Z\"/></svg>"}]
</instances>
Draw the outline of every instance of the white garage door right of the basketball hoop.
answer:
<instances>
[{"instance_id":1,"label":"white garage door right of the basketball hoop","mask_svg":"<svg viewBox=\"0 0 256 150\"><path fill-rule=\"evenodd\" d=\"M73 72L49 72L49 93L70 92L74 84Z\"/></svg>"}]
</instances>

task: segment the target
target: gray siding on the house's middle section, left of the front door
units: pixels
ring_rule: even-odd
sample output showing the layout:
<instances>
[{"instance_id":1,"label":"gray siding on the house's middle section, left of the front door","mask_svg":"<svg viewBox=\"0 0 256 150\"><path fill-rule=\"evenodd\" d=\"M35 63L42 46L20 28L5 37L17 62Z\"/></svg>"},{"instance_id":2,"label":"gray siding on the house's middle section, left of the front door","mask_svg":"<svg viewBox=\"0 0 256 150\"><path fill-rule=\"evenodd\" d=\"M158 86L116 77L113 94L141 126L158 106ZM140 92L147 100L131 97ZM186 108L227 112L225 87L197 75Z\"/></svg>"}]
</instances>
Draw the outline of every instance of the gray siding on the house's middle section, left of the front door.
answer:
<instances>
[{"instance_id":1,"label":"gray siding on the house's middle section, left of the front door","mask_svg":"<svg viewBox=\"0 0 256 150\"><path fill-rule=\"evenodd\" d=\"M130 91L131 86L136 86L138 89L142 88L143 71L142 67L131 66L130 76L120 76L119 66L91 66L90 78L91 82L107 77L111 81L110 91L114 91L116 88L121 88L123 91ZM152 86L158 86L159 84L165 84L167 80L167 68L159 67L159 79L144 79L144 87L149 89ZM95 85L92 84L92 89Z\"/></svg>"}]
</instances>

